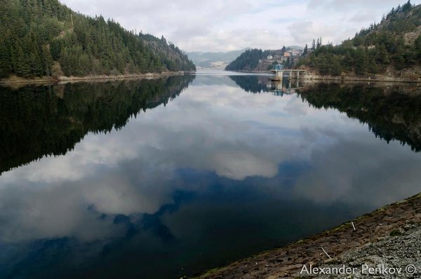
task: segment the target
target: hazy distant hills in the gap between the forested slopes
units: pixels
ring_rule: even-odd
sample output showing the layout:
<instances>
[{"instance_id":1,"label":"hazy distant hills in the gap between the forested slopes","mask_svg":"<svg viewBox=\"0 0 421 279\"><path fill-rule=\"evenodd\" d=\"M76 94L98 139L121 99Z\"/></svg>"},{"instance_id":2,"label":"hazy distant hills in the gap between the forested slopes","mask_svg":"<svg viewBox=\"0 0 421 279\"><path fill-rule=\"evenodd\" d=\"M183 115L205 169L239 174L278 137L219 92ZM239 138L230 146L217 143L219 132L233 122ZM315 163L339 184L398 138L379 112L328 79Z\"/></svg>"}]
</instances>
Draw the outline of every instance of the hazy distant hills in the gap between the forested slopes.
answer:
<instances>
[{"instance_id":1,"label":"hazy distant hills in the gap between the forested slopes","mask_svg":"<svg viewBox=\"0 0 421 279\"><path fill-rule=\"evenodd\" d=\"M197 67L210 68L210 67L225 67L225 65L232 62L236 57L241 55L244 51L249 48L242 50L232 50L227 53L206 53L202 51L195 51L187 53Z\"/></svg>"}]
</instances>

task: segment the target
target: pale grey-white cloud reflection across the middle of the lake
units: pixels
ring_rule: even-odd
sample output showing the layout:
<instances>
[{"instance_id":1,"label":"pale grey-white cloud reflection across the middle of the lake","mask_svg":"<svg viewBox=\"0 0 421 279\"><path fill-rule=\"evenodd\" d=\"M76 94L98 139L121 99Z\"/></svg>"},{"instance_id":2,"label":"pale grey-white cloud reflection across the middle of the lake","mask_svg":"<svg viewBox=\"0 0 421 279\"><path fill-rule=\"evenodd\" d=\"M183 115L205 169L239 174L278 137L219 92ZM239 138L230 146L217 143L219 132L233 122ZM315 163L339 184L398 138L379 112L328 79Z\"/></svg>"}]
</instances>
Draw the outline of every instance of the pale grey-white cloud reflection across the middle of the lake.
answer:
<instances>
[{"instance_id":1,"label":"pale grey-white cloud reflection across the middle of the lake","mask_svg":"<svg viewBox=\"0 0 421 279\"><path fill-rule=\"evenodd\" d=\"M0 239L112 238L121 233L112 215L154 214L173 202L175 191L209 186L177 183L179 170L253 178L259 191L282 196L279 165L304 162L309 170L291 182L288 198L324 205L377 206L417 191L419 156L375 139L366 125L295 95L203 82L199 76L178 99L122 130L88 134L65 156L4 173Z\"/></svg>"}]
</instances>

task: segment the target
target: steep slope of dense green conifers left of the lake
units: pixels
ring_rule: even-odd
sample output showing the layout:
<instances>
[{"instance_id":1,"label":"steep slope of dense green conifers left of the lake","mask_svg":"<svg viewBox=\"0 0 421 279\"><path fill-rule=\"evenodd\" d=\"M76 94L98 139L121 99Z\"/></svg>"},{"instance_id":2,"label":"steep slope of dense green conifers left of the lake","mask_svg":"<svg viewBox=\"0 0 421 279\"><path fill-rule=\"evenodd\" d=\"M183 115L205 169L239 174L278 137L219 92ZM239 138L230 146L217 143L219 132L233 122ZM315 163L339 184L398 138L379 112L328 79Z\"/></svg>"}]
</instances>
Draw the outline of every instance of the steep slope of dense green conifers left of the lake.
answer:
<instances>
[{"instance_id":1,"label":"steep slope of dense green conifers left of the lake","mask_svg":"<svg viewBox=\"0 0 421 279\"><path fill-rule=\"evenodd\" d=\"M58 0L1 0L0 26L0 79L194 69L175 46L152 48L119 23Z\"/></svg>"}]
</instances>

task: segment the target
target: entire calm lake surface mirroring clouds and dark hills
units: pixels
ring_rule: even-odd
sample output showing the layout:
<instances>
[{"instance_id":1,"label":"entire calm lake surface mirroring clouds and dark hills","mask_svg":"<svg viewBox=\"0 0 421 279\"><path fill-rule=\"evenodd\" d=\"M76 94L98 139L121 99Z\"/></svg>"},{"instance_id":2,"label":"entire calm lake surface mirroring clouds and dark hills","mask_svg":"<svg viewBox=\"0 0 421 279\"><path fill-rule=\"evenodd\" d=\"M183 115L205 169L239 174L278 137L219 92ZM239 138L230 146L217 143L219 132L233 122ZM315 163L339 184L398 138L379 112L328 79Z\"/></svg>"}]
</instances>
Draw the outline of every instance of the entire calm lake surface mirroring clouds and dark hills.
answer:
<instances>
[{"instance_id":1,"label":"entire calm lake surface mirroring clouds and dark hills","mask_svg":"<svg viewBox=\"0 0 421 279\"><path fill-rule=\"evenodd\" d=\"M0 88L0 278L180 278L413 196L420 112L218 71Z\"/></svg>"}]
</instances>

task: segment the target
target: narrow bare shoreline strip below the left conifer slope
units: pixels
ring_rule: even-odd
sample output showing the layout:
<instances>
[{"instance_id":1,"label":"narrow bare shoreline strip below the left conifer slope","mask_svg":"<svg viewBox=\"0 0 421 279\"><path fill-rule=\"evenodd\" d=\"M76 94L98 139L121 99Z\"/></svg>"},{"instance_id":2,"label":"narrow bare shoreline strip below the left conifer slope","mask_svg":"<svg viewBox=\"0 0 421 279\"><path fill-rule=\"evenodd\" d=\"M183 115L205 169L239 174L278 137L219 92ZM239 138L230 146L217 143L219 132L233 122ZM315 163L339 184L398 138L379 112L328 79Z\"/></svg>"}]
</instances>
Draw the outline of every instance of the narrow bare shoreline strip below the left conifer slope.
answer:
<instances>
[{"instance_id":1,"label":"narrow bare shoreline strip below the left conifer slope","mask_svg":"<svg viewBox=\"0 0 421 279\"><path fill-rule=\"evenodd\" d=\"M147 73L147 74L121 74L121 75L91 75L91 76L48 76L39 79L23 79L17 76L8 79L0 79L0 85L30 85L30 84L64 84L81 81L118 81L124 79L157 79L163 76L183 76L192 72L162 72L162 73Z\"/></svg>"}]
</instances>

